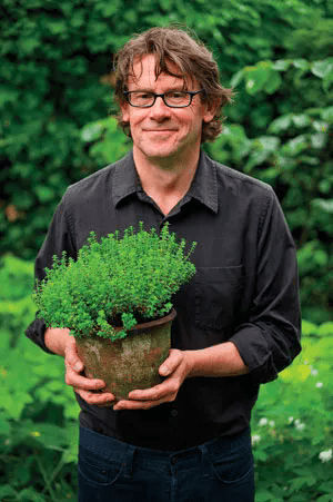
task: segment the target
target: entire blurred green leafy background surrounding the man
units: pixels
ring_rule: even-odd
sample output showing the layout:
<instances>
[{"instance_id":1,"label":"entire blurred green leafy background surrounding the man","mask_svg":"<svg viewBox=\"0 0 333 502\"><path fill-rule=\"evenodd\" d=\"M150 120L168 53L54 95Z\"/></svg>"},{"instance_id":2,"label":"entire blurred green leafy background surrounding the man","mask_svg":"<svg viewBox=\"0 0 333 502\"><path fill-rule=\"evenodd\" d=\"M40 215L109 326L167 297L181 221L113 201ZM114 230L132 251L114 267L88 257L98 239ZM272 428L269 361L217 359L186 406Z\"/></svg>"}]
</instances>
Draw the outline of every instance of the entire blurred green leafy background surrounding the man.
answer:
<instances>
[{"instance_id":1,"label":"entire blurred green leafy background surrounding the man","mask_svg":"<svg viewBox=\"0 0 333 502\"><path fill-rule=\"evenodd\" d=\"M304 351L262 387L256 502L332 502L332 0L2 0L0 500L74 501L78 406L63 362L23 336L33 259L67 186L121 158L112 58L180 23L236 90L206 151L274 188L297 247Z\"/></svg>"}]
</instances>

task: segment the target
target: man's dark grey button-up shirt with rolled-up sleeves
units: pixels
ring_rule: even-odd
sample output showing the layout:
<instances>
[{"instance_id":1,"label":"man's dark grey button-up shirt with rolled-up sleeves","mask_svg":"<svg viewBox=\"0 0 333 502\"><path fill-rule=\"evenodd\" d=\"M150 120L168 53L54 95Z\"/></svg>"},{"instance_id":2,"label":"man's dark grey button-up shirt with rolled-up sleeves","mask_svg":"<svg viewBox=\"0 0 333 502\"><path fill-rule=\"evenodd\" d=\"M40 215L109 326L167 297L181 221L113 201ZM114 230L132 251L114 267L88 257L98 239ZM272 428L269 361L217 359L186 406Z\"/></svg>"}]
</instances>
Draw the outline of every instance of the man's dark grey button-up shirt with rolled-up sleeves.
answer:
<instances>
[{"instance_id":1,"label":"man's dark grey button-up shirt with rolled-up sleeves","mask_svg":"<svg viewBox=\"0 0 333 502\"><path fill-rule=\"evenodd\" d=\"M293 239L272 188L201 152L192 186L165 217L143 191L132 154L72 185L64 194L36 260L44 276L52 255L75 257L91 230L98 236L144 222L198 243L194 278L174 297L172 346L198 350L225 341L250 373L192 377L176 400L149 411L114 412L77 396L80 423L119 440L158 450L182 450L249 425L261 383L276 378L301 350ZM44 323L27 335L47 350Z\"/></svg>"}]
</instances>

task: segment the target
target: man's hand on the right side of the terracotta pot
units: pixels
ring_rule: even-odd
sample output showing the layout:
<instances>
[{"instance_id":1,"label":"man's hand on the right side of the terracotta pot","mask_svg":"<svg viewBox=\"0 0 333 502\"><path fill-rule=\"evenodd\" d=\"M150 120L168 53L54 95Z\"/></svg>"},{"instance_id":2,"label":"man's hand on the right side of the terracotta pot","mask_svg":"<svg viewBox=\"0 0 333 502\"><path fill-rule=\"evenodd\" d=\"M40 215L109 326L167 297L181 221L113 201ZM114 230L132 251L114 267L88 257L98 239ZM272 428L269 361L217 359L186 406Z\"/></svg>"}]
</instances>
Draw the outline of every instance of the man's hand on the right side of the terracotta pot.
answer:
<instances>
[{"instance_id":1,"label":"man's hand on the right side of the terracotta pot","mask_svg":"<svg viewBox=\"0 0 333 502\"><path fill-rule=\"evenodd\" d=\"M169 357L159 368L160 375L165 380L154 387L130 392L129 400L119 401L113 410L149 410L159 404L174 401L180 386L190 373L189 360L188 351L171 348Z\"/></svg>"}]
</instances>

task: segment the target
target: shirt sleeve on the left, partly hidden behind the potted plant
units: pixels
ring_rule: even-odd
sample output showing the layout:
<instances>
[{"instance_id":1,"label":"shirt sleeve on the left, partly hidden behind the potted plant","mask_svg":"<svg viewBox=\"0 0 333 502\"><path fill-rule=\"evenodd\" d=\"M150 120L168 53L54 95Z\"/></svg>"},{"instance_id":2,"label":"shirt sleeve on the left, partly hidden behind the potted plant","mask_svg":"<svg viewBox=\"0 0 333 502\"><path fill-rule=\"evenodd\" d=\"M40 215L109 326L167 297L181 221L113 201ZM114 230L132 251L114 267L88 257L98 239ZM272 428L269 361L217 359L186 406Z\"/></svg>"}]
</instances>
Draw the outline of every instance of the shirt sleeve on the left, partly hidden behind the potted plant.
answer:
<instances>
[{"instance_id":1,"label":"shirt sleeve on the left, partly hidden behind the potted plant","mask_svg":"<svg viewBox=\"0 0 333 502\"><path fill-rule=\"evenodd\" d=\"M74 236L72 232L70 216L65 210L64 199L59 204L49 232L40 248L34 263L34 282L41 280L46 276L46 267L51 267L54 255L61 256L65 250L69 256L75 257ZM47 325L37 312L34 321L26 329L26 335L43 351L52 354L44 343Z\"/></svg>"}]
</instances>

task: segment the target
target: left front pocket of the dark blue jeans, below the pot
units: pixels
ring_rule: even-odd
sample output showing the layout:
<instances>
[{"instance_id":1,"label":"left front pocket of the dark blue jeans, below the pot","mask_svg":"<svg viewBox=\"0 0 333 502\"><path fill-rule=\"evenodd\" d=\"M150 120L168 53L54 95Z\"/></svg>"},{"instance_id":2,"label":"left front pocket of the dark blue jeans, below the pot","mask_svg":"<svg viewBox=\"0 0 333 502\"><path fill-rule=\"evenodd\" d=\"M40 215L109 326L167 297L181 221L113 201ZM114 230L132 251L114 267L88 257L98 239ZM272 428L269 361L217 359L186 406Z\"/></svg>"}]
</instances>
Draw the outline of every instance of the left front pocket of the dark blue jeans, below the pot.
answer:
<instances>
[{"instance_id":1,"label":"left front pocket of the dark blue jeans, below the pot","mask_svg":"<svg viewBox=\"0 0 333 502\"><path fill-rule=\"evenodd\" d=\"M82 475L89 483L109 485L114 483L121 474L122 464L117 461L107 461L90 452L80 451L79 475Z\"/></svg>"}]
</instances>

